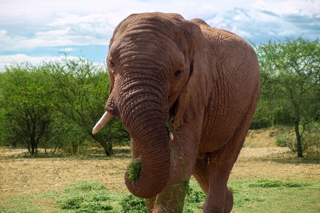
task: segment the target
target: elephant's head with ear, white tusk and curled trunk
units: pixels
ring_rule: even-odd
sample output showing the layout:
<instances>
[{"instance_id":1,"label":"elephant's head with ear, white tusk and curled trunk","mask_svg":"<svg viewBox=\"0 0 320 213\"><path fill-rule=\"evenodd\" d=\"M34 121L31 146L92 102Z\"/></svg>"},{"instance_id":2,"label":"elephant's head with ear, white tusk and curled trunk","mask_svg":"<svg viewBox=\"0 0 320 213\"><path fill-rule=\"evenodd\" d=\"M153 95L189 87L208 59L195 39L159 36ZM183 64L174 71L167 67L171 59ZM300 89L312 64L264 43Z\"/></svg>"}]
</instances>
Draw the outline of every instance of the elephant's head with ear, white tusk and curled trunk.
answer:
<instances>
[{"instance_id":1,"label":"elephant's head with ear, white tusk and curled trunk","mask_svg":"<svg viewBox=\"0 0 320 213\"><path fill-rule=\"evenodd\" d=\"M178 14L133 14L113 33L107 56L110 96L93 133L110 117L121 118L132 138L133 158L142 162L134 183L125 176L135 196L151 198L166 186L174 143L166 118L174 117L178 127L204 110L215 78L207 54L198 25Z\"/></svg>"}]
</instances>

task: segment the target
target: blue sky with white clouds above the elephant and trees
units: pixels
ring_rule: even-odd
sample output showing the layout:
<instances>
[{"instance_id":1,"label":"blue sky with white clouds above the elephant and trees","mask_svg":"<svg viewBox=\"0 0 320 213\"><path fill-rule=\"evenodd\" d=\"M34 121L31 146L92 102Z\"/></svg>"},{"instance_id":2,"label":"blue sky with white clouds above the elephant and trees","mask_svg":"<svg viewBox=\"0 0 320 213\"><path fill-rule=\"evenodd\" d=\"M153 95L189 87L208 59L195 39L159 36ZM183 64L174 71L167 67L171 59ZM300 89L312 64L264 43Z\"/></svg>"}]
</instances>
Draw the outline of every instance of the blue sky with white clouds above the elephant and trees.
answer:
<instances>
[{"instance_id":1,"label":"blue sky with white clouds above the elephant and trees","mask_svg":"<svg viewBox=\"0 0 320 213\"><path fill-rule=\"evenodd\" d=\"M113 30L132 13L201 18L248 42L320 35L320 0L0 0L0 70L64 57L104 62Z\"/></svg>"}]
</instances>

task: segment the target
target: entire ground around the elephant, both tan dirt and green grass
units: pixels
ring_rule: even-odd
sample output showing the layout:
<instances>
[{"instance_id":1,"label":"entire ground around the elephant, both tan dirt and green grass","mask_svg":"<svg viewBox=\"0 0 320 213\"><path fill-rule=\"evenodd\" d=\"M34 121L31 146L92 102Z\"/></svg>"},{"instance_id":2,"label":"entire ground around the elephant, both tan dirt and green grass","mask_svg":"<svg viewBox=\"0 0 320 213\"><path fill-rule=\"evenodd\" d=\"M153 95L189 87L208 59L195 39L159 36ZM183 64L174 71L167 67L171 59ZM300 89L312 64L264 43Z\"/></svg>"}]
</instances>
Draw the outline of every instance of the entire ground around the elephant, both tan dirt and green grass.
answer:
<instances>
[{"instance_id":1,"label":"entire ground around the elephant, both tan dirt and green grass","mask_svg":"<svg viewBox=\"0 0 320 213\"><path fill-rule=\"evenodd\" d=\"M319 160L296 158L274 145L272 129L248 134L228 187L232 212L320 212ZM100 150L85 156L30 157L0 149L0 212L146 212L128 193L124 171L129 148L113 157ZM202 212L205 195L191 178L184 212Z\"/></svg>"}]
</instances>

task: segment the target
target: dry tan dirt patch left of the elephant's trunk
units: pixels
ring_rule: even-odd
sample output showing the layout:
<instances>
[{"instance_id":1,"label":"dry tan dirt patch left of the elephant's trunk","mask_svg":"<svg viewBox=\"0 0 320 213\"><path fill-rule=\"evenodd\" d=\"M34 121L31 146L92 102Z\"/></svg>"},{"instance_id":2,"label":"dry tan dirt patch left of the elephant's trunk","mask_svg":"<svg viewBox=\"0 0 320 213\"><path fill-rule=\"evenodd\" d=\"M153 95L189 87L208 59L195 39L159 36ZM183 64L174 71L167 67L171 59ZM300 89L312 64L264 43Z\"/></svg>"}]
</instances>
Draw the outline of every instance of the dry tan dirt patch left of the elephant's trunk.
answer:
<instances>
[{"instance_id":1,"label":"dry tan dirt patch left of the elephant's trunk","mask_svg":"<svg viewBox=\"0 0 320 213\"><path fill-rule=\"evenodd\" d=\"M99 181L110 191L127 192L124 171L130 161L128 154L113 157L20 156L0 157L0 198L62 190L65 184L80 180Z\"/></svg>"}]
</instances>

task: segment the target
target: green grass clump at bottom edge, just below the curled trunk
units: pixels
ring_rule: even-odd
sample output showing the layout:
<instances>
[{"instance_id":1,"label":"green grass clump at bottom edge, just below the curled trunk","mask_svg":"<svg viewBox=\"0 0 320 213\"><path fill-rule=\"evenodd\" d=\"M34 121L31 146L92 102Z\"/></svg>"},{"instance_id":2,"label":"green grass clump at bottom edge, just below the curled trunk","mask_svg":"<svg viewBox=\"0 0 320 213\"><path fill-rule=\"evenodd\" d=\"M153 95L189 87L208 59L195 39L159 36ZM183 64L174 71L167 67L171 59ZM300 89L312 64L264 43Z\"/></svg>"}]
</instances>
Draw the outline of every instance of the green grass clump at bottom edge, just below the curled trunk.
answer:
<instances>
[{"instance_id":1,"label":"green grass clump at bottom edge, just below the curled trunk","mask_svg":"<svg viewBox=\"0 0 320 213\"><path fill-rule=\"evenodd\" d=\"M123 213L147 213L146 200L129 195L125 197L120 205Z\"/></svg>"}]
</instances>

